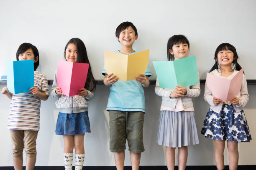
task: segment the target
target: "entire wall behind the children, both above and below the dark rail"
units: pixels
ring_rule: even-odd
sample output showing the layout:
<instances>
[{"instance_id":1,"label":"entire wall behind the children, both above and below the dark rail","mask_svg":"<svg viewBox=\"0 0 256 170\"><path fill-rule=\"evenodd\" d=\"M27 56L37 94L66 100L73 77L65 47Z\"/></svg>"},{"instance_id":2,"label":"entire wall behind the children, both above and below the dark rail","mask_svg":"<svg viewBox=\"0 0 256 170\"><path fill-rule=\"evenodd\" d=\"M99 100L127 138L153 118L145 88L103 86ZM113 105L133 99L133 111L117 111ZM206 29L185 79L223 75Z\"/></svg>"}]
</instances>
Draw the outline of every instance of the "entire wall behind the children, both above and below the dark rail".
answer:
<instances>
[{"instance_id":1,"label":"entire wall behind the children, both above and below the dark rail","mask_svg":"<svg viewBox=\"0 0 256 170\"><path fill-rule=\"evenodd\" d=\"M123 21L133 22L138 29L137 51L150 49L150 67L155 79L153 60L166 60L166 43L174 34L184 34L191 44L190 55L197 56L200 78L212 67L216 47L230 42L241 57L247 79L256 79L256 1L255 0L108 0L108 1L0 1L0 75L6 74L5 60L15 60L15 52L23 42L36 45L40 54L39 71L49 79L54 76L57 60L63 59L64 46L72 37L81 38L87 47L92 71L96 79L103 79L103 50L120 49L115 40L115 28ZM3 86L0 86L2 89ZM204 86L201 85L202 93ZM256 86L248 85L250 100L244 108L253 140L239 144L240 165L256 164ZM85 135L86 161L84 165L115 165L110 153L108 113L109 88L98 85L92 100L89 117L92 133ZM144 146L141 165L164 165L164 148L156 144L161 98L154 93L154 85L145 89L146 109ZM10 100L0 95L0 166L12 166L11 142L6 130ZM202 94L195 101L195 115L200 144L189 147L187 165L214 165L213 141L200 135L209 108ZM63 140L55 135L58 111L54 101L42 101L40 132L37 140L37 166L63 165ZM225 164L228 156L225 151ZM25 164L25 160L24 160ZM128 152L125 165L130 165Z\"/></svg>"}]
</instances>

